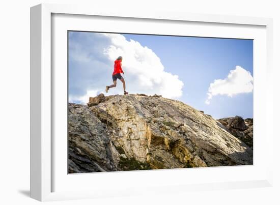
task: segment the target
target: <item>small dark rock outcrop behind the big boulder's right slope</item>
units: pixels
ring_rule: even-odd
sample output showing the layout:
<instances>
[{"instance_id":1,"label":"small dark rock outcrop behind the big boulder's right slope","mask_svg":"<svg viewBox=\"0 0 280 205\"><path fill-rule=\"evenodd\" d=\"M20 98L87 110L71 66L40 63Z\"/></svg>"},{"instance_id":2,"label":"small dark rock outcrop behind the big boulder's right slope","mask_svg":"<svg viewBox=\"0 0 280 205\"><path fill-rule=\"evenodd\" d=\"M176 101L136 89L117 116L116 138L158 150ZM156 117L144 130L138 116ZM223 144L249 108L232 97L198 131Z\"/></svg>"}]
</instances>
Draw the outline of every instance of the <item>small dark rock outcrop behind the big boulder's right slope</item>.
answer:
<instances>
[{"instance_id":1,"label":"small dark rock outcrop behind the big boulder's right slope","mask_svg":"<svg viewBox=\"0 0 280 205\"><path fill-rule=\"evenodd\" d=\"M253 150L253 119L243 120L241 116L222 118L218 120L226 130L235 137L245 142Z\"/></svg>"}]
</instances>

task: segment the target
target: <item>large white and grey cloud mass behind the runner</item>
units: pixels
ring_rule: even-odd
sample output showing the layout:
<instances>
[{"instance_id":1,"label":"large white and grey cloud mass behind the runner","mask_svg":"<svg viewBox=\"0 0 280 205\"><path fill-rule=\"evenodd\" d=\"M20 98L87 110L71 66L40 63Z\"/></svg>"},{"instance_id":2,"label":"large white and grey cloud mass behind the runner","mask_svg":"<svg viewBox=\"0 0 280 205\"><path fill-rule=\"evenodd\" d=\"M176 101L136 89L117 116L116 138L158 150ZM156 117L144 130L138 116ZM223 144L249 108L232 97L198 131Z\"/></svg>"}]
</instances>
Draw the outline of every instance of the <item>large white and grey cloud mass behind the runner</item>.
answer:
<instances>
[{"instance_id":1,"label":"large white and grey cloud mass behind the runner","mask_svg":"<svg viewBox=\"0 0 280 205\"><path fill-rule=\"evenodd\" d=\"M69 35L69 101L85 104L89 95L104 93L112 84L114 61L123 56L129 93L179 98L183 82L164 71L160 58L147 46L120 34L73 32ZM122 83L107 95L123 94Z\"/></svg>"}]
</instances>

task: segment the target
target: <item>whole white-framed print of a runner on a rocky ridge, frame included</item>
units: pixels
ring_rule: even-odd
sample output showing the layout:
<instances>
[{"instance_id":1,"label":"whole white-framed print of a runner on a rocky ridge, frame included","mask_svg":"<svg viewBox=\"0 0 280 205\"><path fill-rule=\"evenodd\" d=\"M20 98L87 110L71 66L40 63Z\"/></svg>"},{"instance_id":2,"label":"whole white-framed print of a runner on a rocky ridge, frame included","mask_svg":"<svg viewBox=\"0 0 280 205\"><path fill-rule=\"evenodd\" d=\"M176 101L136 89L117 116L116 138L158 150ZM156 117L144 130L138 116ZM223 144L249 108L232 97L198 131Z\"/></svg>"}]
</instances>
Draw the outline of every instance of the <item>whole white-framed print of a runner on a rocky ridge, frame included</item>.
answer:
<instances>
[{"instance_id":1,"label":"whole white-framed print of a runner on a rocky ridge, frame included","mask_svg":"<svg viewBox=\"0 0 280 205\"><path fill-rule=\"evenodd\" d=\"M31 196L271 186L271 26L32 7Z\"/></svg>"}]
</instances>

